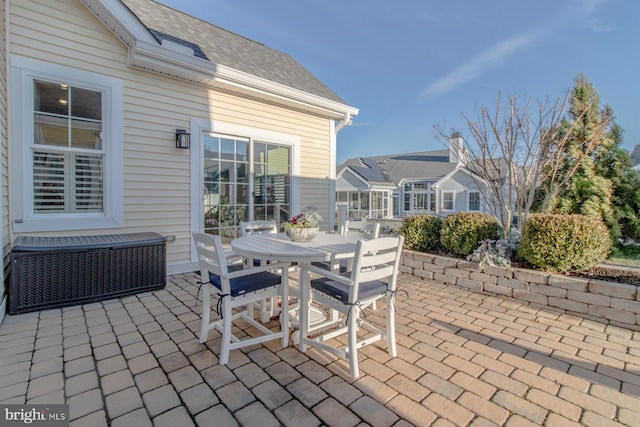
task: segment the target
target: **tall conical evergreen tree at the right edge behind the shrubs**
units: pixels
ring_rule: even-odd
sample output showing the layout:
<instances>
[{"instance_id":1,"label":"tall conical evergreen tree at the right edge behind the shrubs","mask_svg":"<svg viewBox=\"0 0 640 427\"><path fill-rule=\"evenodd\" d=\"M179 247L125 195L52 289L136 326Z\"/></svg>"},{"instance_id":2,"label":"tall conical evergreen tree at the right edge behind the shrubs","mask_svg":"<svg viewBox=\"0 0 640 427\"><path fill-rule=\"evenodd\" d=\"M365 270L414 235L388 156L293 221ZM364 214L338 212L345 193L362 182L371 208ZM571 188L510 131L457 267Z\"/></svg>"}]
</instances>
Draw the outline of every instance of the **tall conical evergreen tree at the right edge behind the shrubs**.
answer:
<instances>
[{"instance_id":1,"label":"tall conical evergreen tree at the right edge behind the shrubs","mask_svg":"<svg viewBox=\"0 0 640 427\"><path fill-rule=\"evenodd\" d=\"M621 148L623 131L611 107L600 107L600 96L584 74L572 90L571 106L560 134L569 143L558 150L559 175L568 179L547 210L580 213L602 219L614 243L640 239L640 175L629 153ZM561 181L561 180L558 180ZM538 191L548 194L548 184Z\"/></svg>"}]
</instances>

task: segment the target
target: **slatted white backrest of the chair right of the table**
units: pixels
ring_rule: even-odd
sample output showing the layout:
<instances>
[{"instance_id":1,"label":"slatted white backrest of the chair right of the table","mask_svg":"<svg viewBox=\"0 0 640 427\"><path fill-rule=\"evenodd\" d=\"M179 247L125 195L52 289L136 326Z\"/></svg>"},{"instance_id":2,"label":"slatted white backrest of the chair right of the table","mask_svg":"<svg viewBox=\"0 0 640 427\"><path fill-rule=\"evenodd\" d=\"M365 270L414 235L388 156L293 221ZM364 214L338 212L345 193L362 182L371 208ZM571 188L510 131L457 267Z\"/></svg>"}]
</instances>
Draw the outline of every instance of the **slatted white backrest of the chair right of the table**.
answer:
<instances>
[{"instance_id":1,"label":"slatted white backrest of the chair right of the table","mask_svg":"<svg viewBox=\"0 0 640 427\"><path fill-rule=\"evenodd\" d=\"M361 283L388 279L387 289L395 291L404 236L359 240L351 271L349 302L356 302Z\"/></svg>"}]
</instances>

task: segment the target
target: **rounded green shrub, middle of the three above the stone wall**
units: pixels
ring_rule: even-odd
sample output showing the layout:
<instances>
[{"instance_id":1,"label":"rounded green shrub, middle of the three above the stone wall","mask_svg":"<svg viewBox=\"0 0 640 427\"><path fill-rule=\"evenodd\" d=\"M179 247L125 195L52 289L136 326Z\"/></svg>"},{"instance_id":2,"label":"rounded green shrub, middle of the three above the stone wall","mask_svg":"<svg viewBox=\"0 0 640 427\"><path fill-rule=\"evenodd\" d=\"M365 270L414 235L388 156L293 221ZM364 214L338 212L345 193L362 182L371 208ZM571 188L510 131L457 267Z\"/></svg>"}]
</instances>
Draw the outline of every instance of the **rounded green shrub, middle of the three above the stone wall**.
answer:
<instances>
[{"instance_id":1,"label":"rounded green shrub, middle of the three above the stone wall","mask_svg":"<svg viewBox=\"0 0 640 427\"><path fill-rule=\"evenodd\" d=\"M490 215L479 212L458 212L442 221L440 243L450 252L467 256L483 240L498 240L500 225Z\"/></svg>"}]
</instances>

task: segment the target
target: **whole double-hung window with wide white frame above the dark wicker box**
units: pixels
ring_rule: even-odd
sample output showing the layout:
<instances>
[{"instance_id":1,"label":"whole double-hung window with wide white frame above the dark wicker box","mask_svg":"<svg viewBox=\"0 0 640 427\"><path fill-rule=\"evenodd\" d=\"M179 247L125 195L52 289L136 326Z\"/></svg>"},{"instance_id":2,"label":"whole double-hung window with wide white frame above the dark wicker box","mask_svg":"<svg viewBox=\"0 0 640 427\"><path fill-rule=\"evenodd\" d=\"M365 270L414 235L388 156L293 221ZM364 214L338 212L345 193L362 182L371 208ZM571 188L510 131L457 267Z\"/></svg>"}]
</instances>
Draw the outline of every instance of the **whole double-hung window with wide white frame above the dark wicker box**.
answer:
<instances>
[{"instance_id":1,"label":"whole double-hung window with wide white frame above the dark wicker box","mask_svg":"<svg viewBox=\"0 0 640 427\"><path fill-rule=\"evenodd\" d=\"M11 65L14 231L122 227L122 82L19 56Z\"/></svg>"}]
</instances>

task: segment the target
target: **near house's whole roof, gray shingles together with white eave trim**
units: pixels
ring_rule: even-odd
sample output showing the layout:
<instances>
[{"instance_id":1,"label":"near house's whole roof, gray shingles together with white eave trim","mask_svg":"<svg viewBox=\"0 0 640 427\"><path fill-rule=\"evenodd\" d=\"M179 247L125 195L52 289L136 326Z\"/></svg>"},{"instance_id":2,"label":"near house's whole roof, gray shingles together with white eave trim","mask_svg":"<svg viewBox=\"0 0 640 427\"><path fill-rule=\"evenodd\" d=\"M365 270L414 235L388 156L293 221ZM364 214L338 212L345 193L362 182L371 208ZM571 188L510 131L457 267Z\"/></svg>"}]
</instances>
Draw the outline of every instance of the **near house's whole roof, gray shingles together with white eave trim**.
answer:
<instances>
[{"instance_id":1,"label":"near house's whole roof, gray shingles together with white eave trim","mask_svg":"<svg viewBox=\"0 0 640 427\"><path fill-rule=\"evenodd\" d=\"M332 118L358 109L290 55L154 0L81 0L128 47L129 64Z\"/></svg>"}]
</instances>

